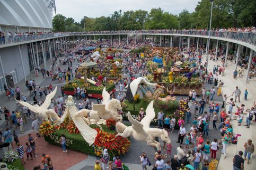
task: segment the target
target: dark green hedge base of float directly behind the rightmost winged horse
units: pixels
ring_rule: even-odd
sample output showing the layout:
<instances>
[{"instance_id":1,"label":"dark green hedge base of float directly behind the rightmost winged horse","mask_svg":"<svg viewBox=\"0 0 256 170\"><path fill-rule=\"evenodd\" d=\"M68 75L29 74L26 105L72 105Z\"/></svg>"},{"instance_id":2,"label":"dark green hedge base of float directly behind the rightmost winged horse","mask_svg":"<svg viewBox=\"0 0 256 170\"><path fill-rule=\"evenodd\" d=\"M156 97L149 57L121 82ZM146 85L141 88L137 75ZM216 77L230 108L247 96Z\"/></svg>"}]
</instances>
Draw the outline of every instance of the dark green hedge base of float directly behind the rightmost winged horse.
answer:
<instances>
[{"instance_id":1,"label":"dark green hedge base of float directly behind the rightmost winged horse","mask_svg":"<svg viewBox=\"0 0 256 170\"><path fill-rule=\"evenodd\" d=\"M127 112L130 111L131 115L136 118L138 115L139 115L139 111L140 111L140 108L144 108L144 111L146 111L147 109L147 106L149 105L149 102L143 100L143 99L140 99L140 102L136 103L135 104L135 111L134 111L134 107L133 107L133 103L130 103L129 101L125 101L126 105L127 105L127 108L123 108L122 111L123 111L123 118L124 119L128 119L127 118ZM155 114L157 116L157 113L160 112L161 110L163 110L164 112L164 115L168 115L169 117L171 117L173 114L174 114L174 111L177 109L177 108L172 108L172 109L161 109L157 106L154 105L154 108L155 108ZM151 122L151 124L153 125L157 125L157 120L156 120L156 117L154 118L154 120Z\"/></svg>"}]
</instances>

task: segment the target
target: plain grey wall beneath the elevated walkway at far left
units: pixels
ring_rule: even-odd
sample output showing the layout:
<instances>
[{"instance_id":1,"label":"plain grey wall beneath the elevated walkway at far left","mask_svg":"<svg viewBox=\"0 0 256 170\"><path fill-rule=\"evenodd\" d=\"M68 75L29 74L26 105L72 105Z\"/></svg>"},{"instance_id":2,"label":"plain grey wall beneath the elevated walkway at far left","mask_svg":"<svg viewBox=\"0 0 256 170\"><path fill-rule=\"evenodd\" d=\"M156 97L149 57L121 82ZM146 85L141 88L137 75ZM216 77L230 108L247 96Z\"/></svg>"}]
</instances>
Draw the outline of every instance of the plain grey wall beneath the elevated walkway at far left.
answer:
<instances>
[{"instance_id":1,"label":"plain grey wall beneath the elevated walkway at far left","mask_svg":"<svg viewBox=\"0 0 256 170\"><path fill-rule=\"evenodd\" d=\"M27 76L30 74L27 44L21 45L21 54L22 54L25 74ZM10 46L7 48L0 49L0 55L3 62L4 74L7 75L8 73L15 70L17 75L17 81L19 82L22 79L24 79L24 74L23 74L22 64L20 59L19 46L15 45L15 46ZM5 75L3 76L2 71L0 71L0 77L2 76L5 77Z\"/></svg>"}]
</instances>

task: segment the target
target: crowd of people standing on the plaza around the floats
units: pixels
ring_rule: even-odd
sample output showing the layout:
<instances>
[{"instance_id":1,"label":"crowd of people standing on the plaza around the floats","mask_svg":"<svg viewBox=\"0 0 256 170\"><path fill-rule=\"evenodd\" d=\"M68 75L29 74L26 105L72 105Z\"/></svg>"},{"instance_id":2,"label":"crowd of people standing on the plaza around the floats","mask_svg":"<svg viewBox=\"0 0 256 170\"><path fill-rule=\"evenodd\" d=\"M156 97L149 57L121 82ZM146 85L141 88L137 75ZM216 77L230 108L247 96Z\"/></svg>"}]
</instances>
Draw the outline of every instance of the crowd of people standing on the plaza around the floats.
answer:
<instances>
[{"instance_id":1,"label":"crowd of people standing on the plaza around the floats","mask_svg":"<svg viewBox=\"0 0 256 170\"><path fill-rule=\"evenodd\" d=\"M130 41L128 45L125 40L121 40L120 42L121 43L119 43L119 41L116 40L111 43L110 41L106 40L103 43L103 46L105 45L105 47L107 47L112 45L113 48L121 47L125 49L134 49L143 45L142 40L138 40L137 42ZM151 44L150 41L146 43ZM90 43L90 45L93 44ZM94 43L94 45L99 44ZM78 48L81 48L81 46L78 45L77 49ZM221 95L223 82L219 80L219 76L225 75L225 67L224 65L216 64L214 65L213 72L208 72L205 69L206 63L202 63L201 61L201 56L204 50L205 48L202 45L198 53L196 53L196 48L194 48L193 46L191 46L190 50L184 48L179 51L179 53L183 55L183 61L192 61L192 65L195 68L195 74L198 74L199 77L205 81L205 83L213 84L213 87L210 89L203 88L201 94L197 94L195 90L191 89L188 94L188 98L181 99L183 101L186 101L187 103L186 119L179 118L179 120L176 120L174 116L165 116L163 111L157 113L156 119L158 122L158 128L163 128L166 129L169 133L174 133L175 126L179 127L179 131L176 135L179 147L176 148L176 152L173 150L171 144L166 144L166 146L164 144L162 152L157 151L154 156L152 155L152 157L154 157L154 163L152 165L155 166L157 170L184 170L201 168L207 169L207 167L211 163L210 159L217 159L216 153L220 149L220 146L223 147L221 152L223 153L224 158L226 158L226 156L231 156L227 155L226 149L229 143L235 143L238 137L237 134L234 134L233 132L231 120L233 118L238 117L238 124L241 126L244 124L243 117L245 116L245 113L247 113L245 121L246 124L244 126L246 126L246 128L250 128L253 115L256 115L255 103L253 103L253 107L251 107L250 109L245 109L245 106L243 104L241 104L241 106L235 105L237 101L241 101L241 90L239 89L239 87L236 87L232 94L224 95L222 103L223 105L221 107L218 102L215 102L216 96ZM55 62L53 62L51 65L51 71L48 71L46 68L38 68L38 74L36 75L39 76L39 72L41 72L43 78L45 78L46 75L48 75L48 77L51 78L55 76L56 79L62 82L65 81L66 74L68 72L68 80L72 79L78 69L78 65L74 65L73 62L77 61L77 64L79 64L83 61L90 60L90 55L77 54L75 53L75 51L76 50L65 50L63 58L59 59L59 64L61 65L57 67L56 58ZM223 51L220 50L218 56L222 56L223 54ZM214 50L212 51L211 55L214 55ZM132 80L136 79L137 77L144 77L145 75L147 75L148 72L146 63L149 61L149 59L140 58L134 54L130 54L128 51L119 52L116 55L114 55L114 57L122 59L123 74L118 82L114 82L114 84L116 84L116 90L118 91L116 94L118 95L116 96L116 94L113 93L111 95L111 98L116 98L122 102L126 100L126 85L129 84ZM65 65L68 67L67 69L65 69ZM73 66L75 66L75 69L72 69ZM241 66L243 67L242 64ZM99 70L101 73L103 73L103 67L104 66L101 65L101 63L99 63ZM56 79L52 79L52 81L55 81ZM97 81L97 78L93 79L94 81ZM103 81L105 80L103 79ZM43 103L43 101L38 101L37 96L39 95L39 97L42 98L43 93L45 96L47 96L53 88L51 83L49 84L49 86L40 87L40 85L37 84L34 80L27 81L25 83L25 86L27 87L27 90L30 91L30 95L33 97L33 103L39 106ZM13 98L17 100L27 101L26 96L23 93L21 93L21 89L19 86L13 89L11 87L6 87L5 85L5 90L6 96L9 100ZM63 111L65 110L65 101L63 99L64 91L63 88L61 88L60 90L62 96L59 96L57 99L52 100L54 110L59 116L63 115ZM94 102L93 100L90 100L88 98L86 88L77 87L74 93L76 99L78 100L77 107L79 109L92 109ZM248 98L248 94L248 90L245 90L243 93L244 99ZM199 99L197 98L198 95L200 95ZM232 96L234 97L231 98ZM97 103L101 102L102 100L98 98ZM190 107L188 105L189 103L191 104ZM228 111L225 110L226 105L229 106ZM209 106L209 110L207 110L207 106ZM235 108L237 108L237 111L234 111L236 110ZM34 130L36 136L33 137L33 134L29 134L28 142L25 143L24 147L21 143L19 143L19 139L17 139L16 132L8 129L8 127L6 128L6 131L3 134L1 133L1 135L4 137L5 143L10 143L12 145L12 148L16 148L17 152L20 155L21 162L23 164L25 164L25 153L27 154L27 160L29 160L29 156L31 159L36 158L37 154L35 141L37 137L40 137L40 134L38 133L40 122L37 120L36 114L34 114L26 107L21 107L21 110L15 110L12 111L12 113L7 108L4 108L3 112L6 120L6 126L10 125L10 128L15 128L15 130L18 127L20 127L21 133L24 133L23 125L27 123L27 120L33 120L32 130ZM138 113L138 120L142 120L144 116L144 108L141 108ZM220 123L219 126L216 125L217 121L219 121ZM256 122L256 116L254 122ZM210 130L211 126L214 129L214 131ZM190 127L190 129L187 130L186 127ZM215 131L217 127L220 130L219 132ZM215 138L212 141L210 141L208 139L208 136L210 136L210 134L215 133L219 133L219 136L221 137L219 137L218 139ZM12 141L12 138L15 141L15 146ZM65 136L61 136L61 146L63 148L63 152L67 153L65 145ZM244 147L244 153L241 151L239 152L238 155L234 157L234 166L237 169L242 169L242 164L244 163L242 155L244 155L245 158L246 156L248 156L247 160L249 164L251 154L254 152L254 146L251 140L248 140L248 142L244 144ZM171 153L174 152L175 155L171 158ZM97 162L95 163L96 170L101 168L100 163L103 163L102 168L107 169L108 167L108 170L122 168L120 157L115 156L113 160L110 161L108 150L104 149L103 153L104 154L102 159L97 160ZM142 169L147 169L147 166L151 165L151 163L149 162L149 157L151 156L147 155L146 153L142 153L142 155L139 156L140 163L142 164ZM44 166L44 169L53 169L49 155L43 154L42 164ZM40 169L40 166L37 166L34 169Z\"/></svg>"}]
</instances>

